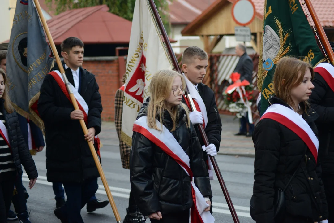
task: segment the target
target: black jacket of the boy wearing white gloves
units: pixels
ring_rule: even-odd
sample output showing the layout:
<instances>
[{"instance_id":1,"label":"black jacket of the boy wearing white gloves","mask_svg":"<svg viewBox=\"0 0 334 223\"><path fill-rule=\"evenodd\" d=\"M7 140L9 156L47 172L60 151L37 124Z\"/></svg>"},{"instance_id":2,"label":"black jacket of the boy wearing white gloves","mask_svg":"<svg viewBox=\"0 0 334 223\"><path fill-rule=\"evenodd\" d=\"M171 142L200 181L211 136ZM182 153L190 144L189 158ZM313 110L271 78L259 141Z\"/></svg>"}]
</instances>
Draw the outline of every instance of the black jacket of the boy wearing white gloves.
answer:
<instances>
[{"instance_id":1,"label":"black jacket of the boy wearing white gloves","mask_svg":"<svg viewBox=\"0 0 334 223\"><path fill-rule=\"evenodd\" d=\"M218 152L219 146L220 146L220 140L221 140L221 120L220 120L220 115L219 115L218 108L216 105L216 98L214 97L214 92L212 91L212 89L202 83L198 84L197 89L198 89L199 95L203 99L203 102L206 108L206 114L208 116L208 123L204 131L208 138L209 144L211 143L214 144ZM186 103L184 98L182 98L182 102ZM195 125L194 127L196 130L199 142L201 143L201 146L203 146L205 143L201 136L201 133L199 132L198 125ZM205 151L203 152L203 157L205 161L208 158L208 155Z\"/></svg>"}]
</instances>

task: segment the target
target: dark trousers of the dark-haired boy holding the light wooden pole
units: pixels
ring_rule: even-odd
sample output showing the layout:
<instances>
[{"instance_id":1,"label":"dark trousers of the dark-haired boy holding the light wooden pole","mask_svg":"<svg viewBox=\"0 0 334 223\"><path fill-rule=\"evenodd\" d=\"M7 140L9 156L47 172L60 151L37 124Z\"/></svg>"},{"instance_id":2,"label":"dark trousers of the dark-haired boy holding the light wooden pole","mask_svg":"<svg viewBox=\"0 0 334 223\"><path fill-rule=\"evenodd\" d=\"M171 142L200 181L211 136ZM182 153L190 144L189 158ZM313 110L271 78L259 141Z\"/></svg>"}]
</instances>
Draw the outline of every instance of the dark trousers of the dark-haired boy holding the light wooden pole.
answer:
<instances>
[{"instance_id":1,"label":"dark trousers of the dark-haired boy holding the light wooden pole","mask_svg":"<svg viewBox=\"0 0 334 223\"><path fill-rule=\"evenodd\" d=\"M63 183L67 200L60 208L61 214L67 217L68 223L83 223L81 209L98 190L98 179L90 179L79 183Z\"/></svg>"}]
</instances>

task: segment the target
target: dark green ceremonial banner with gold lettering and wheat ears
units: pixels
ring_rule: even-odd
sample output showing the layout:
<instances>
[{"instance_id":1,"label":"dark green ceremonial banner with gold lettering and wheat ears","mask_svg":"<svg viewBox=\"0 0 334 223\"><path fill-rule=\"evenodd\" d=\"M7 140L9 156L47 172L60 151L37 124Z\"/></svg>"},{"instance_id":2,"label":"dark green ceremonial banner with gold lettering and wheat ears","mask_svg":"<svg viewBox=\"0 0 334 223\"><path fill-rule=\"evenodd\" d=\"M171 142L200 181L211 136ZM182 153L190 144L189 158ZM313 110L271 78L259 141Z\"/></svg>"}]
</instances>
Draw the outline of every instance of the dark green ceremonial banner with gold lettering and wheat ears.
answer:
<instances>
[{"instance_id":1,"label":"dark green ceremonial banner with gold lettering and wheat ears","mask_svg":"<svg viewBox=\"0 0 334 223\"><path fill-rule=\"evenodd\" d=\"M280 58L289 55L312 66L325 61L302 7L299 0L265 1L258 72L261 115L268 108L268 99L275 94L273 75Z\"/></svg>"}]
</instances>

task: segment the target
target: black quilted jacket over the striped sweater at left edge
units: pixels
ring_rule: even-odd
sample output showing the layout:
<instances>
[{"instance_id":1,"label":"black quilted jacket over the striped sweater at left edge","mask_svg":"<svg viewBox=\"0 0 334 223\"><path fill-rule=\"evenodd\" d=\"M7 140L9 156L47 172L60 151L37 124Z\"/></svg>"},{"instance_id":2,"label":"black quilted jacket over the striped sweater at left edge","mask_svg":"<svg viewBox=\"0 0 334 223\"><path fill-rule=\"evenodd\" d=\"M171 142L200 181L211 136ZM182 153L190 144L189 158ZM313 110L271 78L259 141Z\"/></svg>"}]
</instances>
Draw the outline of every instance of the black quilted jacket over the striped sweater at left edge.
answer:
<instances>
[{"instance_id":1,"label":"black quilted jacket over the striped sweater at left edge","mask_svg":"<svg viewBox=\"0 0 334 223\"><path fill-rule=\"evenodd\" d=\"M16 111L8 113L4 108L3 99L0 99L0 109L6 121L4 124L8 130L9 143L18 174L22 175L22 164L30 180L38 178L35 162L24 142Z\"/></svg>"}]
</instances>

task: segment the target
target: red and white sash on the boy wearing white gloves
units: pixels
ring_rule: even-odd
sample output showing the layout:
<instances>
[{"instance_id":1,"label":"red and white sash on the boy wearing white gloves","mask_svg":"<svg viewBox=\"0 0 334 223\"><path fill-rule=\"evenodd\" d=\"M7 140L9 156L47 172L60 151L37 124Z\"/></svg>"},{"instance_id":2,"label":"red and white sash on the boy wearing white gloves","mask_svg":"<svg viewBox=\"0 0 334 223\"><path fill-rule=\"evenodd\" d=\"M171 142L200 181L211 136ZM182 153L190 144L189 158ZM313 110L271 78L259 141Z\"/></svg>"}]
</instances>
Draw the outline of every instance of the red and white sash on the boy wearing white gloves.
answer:
<instances>
[{"instance_id":1,"label":"red and white sash on the boy wearing white gloves","mask_svg":"<svg viewBox=\"0 0 334 223\"><path fill-rule=\"evenodd\" d=\"M196 90L195 86L188 80L188 78L183 74L184 79L186 80L186 85L187 85L187 89L194 101L195 107L196 107L196 111L202 112L203 115L203 128L205 129L207 123L208 123L208 116L206 113L206 107L205 104L203 102L202 97L199 95L198 91ZM184 100L186 101L187 106L190 108L190 103L188 101L188 98L184 98ZM209 178L210 180L213 180L213 165L212 162L210 160L210 158L208 157L207 159L207 165L208 165L208 172L209 172Z\"/></svg>"}]
</instances>

